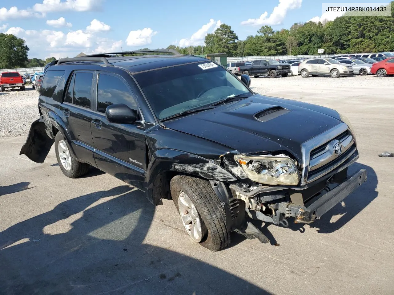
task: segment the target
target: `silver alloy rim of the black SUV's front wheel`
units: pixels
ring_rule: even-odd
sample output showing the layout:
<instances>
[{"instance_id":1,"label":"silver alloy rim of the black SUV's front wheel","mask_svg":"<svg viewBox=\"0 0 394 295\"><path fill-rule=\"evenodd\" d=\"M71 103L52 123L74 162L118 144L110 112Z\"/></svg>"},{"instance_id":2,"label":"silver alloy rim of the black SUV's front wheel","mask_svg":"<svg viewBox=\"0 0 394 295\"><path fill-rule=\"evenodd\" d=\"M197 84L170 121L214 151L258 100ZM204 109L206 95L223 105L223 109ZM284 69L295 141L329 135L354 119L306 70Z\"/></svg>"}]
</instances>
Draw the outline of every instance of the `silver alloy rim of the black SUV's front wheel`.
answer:
<instances>
[{"instance_id":1,"label":"silver alloy rim of the black SUV's front wheel","mask_svg":"<svg viewBox=\"0 0 394 295\"><path fill-rule=\"evenodd\" d=\"M200 217L190 197L184 192L179 194L178 208L180 218L189 236L196 242L201 242L203 235Z\"/></svg>"}]
</instances>

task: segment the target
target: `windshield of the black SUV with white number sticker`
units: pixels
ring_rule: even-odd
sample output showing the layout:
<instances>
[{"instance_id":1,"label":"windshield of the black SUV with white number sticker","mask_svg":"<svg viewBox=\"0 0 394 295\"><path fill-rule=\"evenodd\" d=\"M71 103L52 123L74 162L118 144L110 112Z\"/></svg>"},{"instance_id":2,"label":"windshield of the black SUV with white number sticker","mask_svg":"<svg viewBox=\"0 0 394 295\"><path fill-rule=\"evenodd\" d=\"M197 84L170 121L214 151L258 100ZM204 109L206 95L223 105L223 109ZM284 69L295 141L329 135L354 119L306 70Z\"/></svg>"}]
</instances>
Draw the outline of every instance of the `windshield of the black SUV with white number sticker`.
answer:
<instances>
[{"instance_id":1,"label":"windshield of the black SUV with white number sticker","mask_svg":"<svg viewBox=\"0 0 394 295\"><path fill-rule=\"evenodd\" d=\"M240 94L252 95L240 79L212 62L171 66L134 77L160 120Z\"/></svg>"}]
</instances>

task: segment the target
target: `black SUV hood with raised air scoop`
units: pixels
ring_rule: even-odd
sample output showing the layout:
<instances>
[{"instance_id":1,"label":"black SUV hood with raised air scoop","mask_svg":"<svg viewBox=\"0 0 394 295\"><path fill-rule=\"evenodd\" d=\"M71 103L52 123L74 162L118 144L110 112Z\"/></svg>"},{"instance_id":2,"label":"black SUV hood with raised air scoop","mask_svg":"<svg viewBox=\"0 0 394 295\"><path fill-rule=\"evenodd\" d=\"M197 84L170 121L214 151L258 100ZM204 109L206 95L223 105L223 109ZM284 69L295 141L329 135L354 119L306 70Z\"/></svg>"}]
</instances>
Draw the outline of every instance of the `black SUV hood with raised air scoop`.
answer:
<instances>
[{"instance_id":1,"label":"black SUV hood with raised air scoop","mask_svg":"<svg viewBox=\"0 0 394 295\"><path fill-rule=\"evenodd\" d=\"M288 151L300 162L301 144L339 123L332 109L260 94L164 122L243 154Z\"/></svg>"}]
</instances>

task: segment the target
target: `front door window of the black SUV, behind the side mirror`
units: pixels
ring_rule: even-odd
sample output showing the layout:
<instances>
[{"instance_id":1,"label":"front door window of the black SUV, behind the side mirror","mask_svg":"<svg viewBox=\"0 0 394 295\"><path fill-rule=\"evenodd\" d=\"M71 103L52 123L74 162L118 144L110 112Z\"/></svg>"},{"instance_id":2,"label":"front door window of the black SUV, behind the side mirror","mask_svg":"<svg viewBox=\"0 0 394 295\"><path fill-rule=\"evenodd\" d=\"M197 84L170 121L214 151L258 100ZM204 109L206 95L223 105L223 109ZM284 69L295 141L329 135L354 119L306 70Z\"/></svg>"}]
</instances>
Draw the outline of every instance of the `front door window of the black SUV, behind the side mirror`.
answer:
<instances>
[{"instance_id":1,"label":"front door window of the black SUV, behind the side mirror","mask_svg":"<svg viewBox=\"0 0 394 295\"><path fill-rule=\"evenodd\" d=\"M106 108L115 103L123 103L131 109L137 109L136 101L121 79L112 75L99 74L97 111L105 113Z\"/></svg>"}]
</instances>

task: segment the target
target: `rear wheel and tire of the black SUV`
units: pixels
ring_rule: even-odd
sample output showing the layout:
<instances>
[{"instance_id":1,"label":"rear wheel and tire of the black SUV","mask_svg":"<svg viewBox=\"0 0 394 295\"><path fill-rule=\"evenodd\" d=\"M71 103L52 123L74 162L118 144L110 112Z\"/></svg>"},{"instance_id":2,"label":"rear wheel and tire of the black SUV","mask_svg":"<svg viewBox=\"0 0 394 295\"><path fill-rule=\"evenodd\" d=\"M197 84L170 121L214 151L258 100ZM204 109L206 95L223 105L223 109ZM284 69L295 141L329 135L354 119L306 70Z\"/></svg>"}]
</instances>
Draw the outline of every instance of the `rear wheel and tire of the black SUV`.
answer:
<instances>
[{"instance_id":1,"label":"rear wheel and tire of the black SUV","mask_svg":"<svg viewBox=\"0 0 394 295\"><path fill-rule=\"evenodd\" d=\"M59 148L60 147L60 148ZM79 162L71 153L71 148L67 140L58 132L55 136L55 153L58 159L60 170L69 178L76 178L85 175L90 168L89 164ZM61 153L62 155L60 155ZM65 159L61 159L61 157ZM63 162L62 162L63 160ZM66 164L67 162L67 164ZM64 164L63 164L64 163Z\"/></svg>"}]
</instances>

